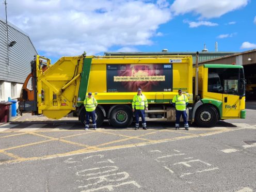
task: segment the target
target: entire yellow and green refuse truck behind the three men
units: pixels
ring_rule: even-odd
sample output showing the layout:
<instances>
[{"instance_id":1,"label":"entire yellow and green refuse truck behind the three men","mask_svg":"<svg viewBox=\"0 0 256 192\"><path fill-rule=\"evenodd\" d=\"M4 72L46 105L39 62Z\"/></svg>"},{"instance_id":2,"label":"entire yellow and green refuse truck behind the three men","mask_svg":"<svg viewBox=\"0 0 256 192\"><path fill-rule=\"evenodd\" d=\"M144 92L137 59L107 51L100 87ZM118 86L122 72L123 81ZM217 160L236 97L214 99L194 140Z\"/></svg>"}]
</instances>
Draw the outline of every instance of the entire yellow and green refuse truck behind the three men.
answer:
<instances>
[{"instance_id":1,"label":"entire yellow and green refuse truck behind the three men","mask_svg":"<svg viewBox=\"0 0 256 192\"><path fill-rule=\"evenodd\" d=\"M198 93L195 77L198 71ZM178 90L187 95L188 120L211 127L220 119L245 118L245 80L242 66L202 65L193 68L191 56L62 57L54 65L36 56L19 98L19 109L60 119L73 114L85 124L85 96L98 101L96 121L114 127L133 121L132 99L142 89L149 103L147 121L175 121L170 104Z\"/></svg>"}]
</instances>

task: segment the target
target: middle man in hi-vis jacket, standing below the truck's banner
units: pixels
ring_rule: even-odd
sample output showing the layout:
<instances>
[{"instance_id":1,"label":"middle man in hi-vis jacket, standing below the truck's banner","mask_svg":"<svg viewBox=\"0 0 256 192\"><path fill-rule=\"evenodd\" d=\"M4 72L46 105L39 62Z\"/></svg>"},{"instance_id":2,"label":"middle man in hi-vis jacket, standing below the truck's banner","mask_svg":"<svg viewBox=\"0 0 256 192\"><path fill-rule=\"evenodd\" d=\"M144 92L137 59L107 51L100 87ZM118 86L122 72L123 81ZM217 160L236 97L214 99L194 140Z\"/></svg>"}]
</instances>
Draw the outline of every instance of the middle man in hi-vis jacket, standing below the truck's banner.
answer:
<instances>
[{"instance_id":1,"label":"middle man in hi-vis jacket, standing below the truck's banner","mask_svg":"<svg viewBox=\"0 0 256 192\"><path fill-rule=\"evenodd\" d=\"M141 93L141 89L138 88L138 93L133 97L133 112L135 111L135 130L139 129L139 116L142 121L143 130L147 130L147 125L145 121L145 109L148 110L148 100L144 94Z\"/></svg>"}]
</instances>

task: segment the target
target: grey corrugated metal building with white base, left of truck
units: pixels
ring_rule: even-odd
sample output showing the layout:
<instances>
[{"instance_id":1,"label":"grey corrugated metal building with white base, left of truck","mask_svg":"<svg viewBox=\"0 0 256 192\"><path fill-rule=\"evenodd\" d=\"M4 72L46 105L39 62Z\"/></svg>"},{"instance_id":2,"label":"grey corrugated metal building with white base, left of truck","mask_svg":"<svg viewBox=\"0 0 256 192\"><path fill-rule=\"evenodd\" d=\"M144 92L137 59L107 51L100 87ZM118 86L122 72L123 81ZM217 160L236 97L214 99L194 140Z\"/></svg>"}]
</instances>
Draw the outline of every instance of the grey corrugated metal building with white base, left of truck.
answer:
<instances>
[{"instance_id":1,"label":"grey corrugated metal building with white base, left of truck","mask_svg":"<svg viewBox=\"0 0 256 192\"><path fill-rule=\"evenodd\" d=\"M12 41L16 43L9 46ZM29 36L9 22L7 43L6 20L0 18L0 101L19 97L22 84L31 71L30 61L34 55L37 55L37 51Z\"/></svg>"}]
</instances>

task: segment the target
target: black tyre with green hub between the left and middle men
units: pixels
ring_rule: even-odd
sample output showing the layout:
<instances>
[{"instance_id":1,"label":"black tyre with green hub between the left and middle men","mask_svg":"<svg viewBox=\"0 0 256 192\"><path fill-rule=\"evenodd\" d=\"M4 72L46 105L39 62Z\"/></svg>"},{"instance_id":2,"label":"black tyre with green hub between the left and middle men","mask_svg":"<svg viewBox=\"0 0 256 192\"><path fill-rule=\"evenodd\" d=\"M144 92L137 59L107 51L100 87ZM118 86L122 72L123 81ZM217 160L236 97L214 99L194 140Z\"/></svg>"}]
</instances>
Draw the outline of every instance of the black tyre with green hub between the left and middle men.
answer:
<instances>
[{"instance_id":1,"label":"black tyre with green hub between the left and middle men","mask_svg":"<svg viewBox=\"0 0 256 192\"><path fill-rule=\"evenodd\" d=\"M116 106L110 112L109 122L112 126L117 128L124 128L129 126L133 121L132 109L125 105Z\"/></svg>"}]
</instances>

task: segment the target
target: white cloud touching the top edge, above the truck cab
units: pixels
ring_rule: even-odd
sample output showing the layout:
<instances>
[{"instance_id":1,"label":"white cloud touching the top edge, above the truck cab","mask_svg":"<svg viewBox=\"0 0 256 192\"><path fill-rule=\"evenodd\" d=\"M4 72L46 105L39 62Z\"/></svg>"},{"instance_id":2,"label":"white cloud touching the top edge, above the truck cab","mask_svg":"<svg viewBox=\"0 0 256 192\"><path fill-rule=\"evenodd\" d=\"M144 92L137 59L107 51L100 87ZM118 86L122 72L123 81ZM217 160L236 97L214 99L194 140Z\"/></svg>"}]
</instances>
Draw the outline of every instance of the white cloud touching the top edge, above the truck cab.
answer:
<instances>
[{"instance_id":1,"label":"white cloud touching the top edge, above the truck cab","mask_svg":"<svg viewBox=\"0 0 256 192\"><path fill-rule=\"evenodd\" d=\"M245 7L250 0L175 0L171 5L174 15L195 13L200 18L218 18L230 11Z\"/></svg>"}]
</instances>

